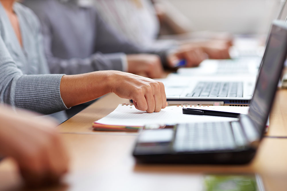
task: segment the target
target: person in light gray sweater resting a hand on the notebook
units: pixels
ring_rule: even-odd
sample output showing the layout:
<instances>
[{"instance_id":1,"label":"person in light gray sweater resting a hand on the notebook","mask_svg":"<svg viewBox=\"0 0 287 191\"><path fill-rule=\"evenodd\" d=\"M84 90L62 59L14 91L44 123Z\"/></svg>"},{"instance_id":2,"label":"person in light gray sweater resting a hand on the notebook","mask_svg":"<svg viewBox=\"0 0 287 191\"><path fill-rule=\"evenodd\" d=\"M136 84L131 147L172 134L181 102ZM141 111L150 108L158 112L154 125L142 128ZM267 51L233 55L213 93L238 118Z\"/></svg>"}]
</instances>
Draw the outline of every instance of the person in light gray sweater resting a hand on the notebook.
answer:
<instances>
[{"instance_id":1,"label":"person in light gray sweater resting a hand on the notebook","mask_svg":"<svg viewBox=\"0 0 287 191\"><path fill-rule=\"evenodd\" d=\"M148 113L166 107L164 85L150 78L114 70L50 74L40 23L14 0L0 0L0 36L0 103L51 114L113 92Z\"/></svg>"}]
</instances>

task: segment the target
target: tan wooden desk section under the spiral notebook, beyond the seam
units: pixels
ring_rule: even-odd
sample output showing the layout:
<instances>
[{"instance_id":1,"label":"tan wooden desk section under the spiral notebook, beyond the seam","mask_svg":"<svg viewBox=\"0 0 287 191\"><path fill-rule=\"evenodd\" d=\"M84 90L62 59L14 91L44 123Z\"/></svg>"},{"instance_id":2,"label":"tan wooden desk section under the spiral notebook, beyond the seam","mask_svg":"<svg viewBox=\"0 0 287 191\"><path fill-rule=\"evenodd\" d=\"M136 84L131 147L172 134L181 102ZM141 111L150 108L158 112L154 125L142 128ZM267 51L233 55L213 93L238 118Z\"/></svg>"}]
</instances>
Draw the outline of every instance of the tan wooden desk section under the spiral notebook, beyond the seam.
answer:
<instances>
[{"instance_id":1,"label":"tan wooden desk section under the spiral notebook, beyond the seam","mask_svg":"<svg viewBox=\"0 0 287 191\"><path fill-rule=\"evenodd\" d=\"M114 111L120 103L130 102L128 99L119 98L115 94L108 94L71 119L67 120L65 123L61 124L59 126L59 131L61 133L106 134L104 132L93 131L92 123ZM278 90L275 98L274 108L270 113L270 126L272 128L269 128L266 135L287 136L286 120L287 90Z\"/></svg>"}]
</instances>

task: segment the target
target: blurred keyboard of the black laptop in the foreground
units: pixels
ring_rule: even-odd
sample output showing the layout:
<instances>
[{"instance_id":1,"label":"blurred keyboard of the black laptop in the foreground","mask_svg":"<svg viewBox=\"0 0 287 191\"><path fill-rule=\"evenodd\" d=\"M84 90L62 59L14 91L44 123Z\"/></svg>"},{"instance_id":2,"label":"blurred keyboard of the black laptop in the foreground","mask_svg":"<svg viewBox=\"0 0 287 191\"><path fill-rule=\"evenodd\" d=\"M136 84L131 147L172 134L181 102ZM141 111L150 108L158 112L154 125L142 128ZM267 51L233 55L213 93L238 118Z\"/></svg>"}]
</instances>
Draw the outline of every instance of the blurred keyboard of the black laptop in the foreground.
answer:
<instances>
[{"instance_id":1,"label":"blurred keyboard of the black laptop in the foreground","mask_svg":"<svg viewBox=\"0 0 287 191\"><path fill-rule=\"evenodd\" d=\"M238 133L237 137L240 135L243 134ZM233 137L230 122L179 124L174 150L177 152L228 150L234 149L237 142Z\"/></svg>"}]
</instances>

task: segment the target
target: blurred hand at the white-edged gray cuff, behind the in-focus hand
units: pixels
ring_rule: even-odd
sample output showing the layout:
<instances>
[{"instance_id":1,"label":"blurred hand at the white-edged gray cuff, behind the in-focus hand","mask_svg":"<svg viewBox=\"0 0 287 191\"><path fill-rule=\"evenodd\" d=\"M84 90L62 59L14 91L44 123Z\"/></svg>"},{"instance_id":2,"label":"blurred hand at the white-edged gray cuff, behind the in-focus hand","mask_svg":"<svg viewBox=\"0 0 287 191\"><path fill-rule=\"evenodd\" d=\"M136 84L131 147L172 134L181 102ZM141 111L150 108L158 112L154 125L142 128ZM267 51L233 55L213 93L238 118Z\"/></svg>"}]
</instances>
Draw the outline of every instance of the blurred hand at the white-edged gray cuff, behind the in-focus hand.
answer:
<instances>
[{"instance_id":1,"label":"blurred hand at the white-edged gray cuff, behind the in-focus hand","mask_svg":"<svg viewBox=\"0 0 287 191\"><path fill-rule=\"evenodd\" d=\"M127 55L128 72L149 78L162 78L164 71L158 55Z\"/></svg>"}]
</instances>

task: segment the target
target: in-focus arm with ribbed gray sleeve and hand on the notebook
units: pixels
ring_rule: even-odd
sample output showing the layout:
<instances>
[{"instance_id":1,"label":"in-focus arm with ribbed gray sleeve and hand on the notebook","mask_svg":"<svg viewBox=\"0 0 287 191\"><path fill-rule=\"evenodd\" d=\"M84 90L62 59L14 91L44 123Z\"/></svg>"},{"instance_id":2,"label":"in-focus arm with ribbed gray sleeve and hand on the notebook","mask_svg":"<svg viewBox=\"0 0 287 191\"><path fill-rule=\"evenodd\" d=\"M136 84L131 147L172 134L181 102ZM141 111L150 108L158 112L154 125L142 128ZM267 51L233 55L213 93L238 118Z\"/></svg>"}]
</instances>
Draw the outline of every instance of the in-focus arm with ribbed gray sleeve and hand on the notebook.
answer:
<instances>
[{"instance_id":1,"label":"in-focus arm with ribbed gray sleeve and hand on the notebook","mask_svg":"<svg viewBox=\"0 0 287 191\"><path fill-rule=\"evenodd\" d=\"M24 75L17 68L0 38L0 102L44 114L54 113L94 100L109 92L133 99L137 109L147 112L166 107L161 82L119 71L88 74Z\"/></svg>"}]
</instances>

